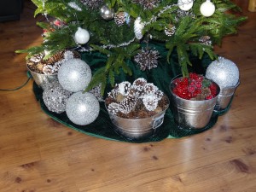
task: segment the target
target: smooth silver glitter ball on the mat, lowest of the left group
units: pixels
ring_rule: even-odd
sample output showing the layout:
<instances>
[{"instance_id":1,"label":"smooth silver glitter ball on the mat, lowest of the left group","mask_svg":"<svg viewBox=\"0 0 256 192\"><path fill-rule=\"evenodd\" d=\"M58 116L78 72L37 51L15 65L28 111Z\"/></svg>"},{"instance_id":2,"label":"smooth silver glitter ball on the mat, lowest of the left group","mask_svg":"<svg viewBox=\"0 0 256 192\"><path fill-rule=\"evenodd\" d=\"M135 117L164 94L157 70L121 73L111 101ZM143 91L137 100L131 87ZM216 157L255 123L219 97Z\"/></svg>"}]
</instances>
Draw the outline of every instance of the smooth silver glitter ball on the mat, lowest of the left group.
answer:
<instances>
[{"instance_id":1,"label":"smooth silver glitter ball on the mat, lowest of the left group","mask_svg":"<svg viewBox=\"0 0 256 192\"><path fill-rule=\"evenodd\" d=\"M98 117L100 104L91 93L79 91L67 100L66 113L74 124L88 125Z\"/></svg>"}]
</instances>

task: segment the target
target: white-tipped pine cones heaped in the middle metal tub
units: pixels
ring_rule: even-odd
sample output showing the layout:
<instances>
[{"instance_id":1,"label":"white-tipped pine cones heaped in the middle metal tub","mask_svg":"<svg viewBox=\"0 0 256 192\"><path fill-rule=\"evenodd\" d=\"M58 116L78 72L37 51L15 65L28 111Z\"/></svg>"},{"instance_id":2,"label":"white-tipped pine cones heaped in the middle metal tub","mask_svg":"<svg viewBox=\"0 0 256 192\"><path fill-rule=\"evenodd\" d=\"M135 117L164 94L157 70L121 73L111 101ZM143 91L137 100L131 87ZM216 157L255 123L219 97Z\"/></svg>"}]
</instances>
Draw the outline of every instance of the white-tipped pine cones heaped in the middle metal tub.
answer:
<instances>
[{"instance_id":1,"label":"white-tipped pine cones heaped in the middle metal tub","mask_svg":"<svg viewBox=\"0 0 256 192\"><path fill-rule=\"evenodd\" d=\"M108 112L128 119L153 116L167 104L164 93L143 78L136 79L133 84L127 81L116 84L105 102Z\"/></svg>"}]
</instances>

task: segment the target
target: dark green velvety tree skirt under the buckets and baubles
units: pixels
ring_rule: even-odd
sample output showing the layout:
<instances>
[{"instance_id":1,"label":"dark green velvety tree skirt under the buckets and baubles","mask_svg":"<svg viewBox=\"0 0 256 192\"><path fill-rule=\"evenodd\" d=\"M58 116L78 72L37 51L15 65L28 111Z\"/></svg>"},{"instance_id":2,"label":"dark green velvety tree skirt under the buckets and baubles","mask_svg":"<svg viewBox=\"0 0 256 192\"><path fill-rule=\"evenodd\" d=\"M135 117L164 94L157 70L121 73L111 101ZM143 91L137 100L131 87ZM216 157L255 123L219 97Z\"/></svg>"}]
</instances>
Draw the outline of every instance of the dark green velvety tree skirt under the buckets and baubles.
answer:
<instances>
[{"instance_id":1,"label":"dark green velvety tree skirt under the buckets and baubles","mask_svg":"<svg viewBox=\"0 0 256 192\"><path fill-rule=\"evenodd\" d=\"M158 47L157 49L161 53L158 67L151 69L150 71L143 72L139 69L139 66L137 65L137 63L132 61L127 61L129 67L131 67L133 74L132 76L126 76L125 73L123 73L122 70L120 69L120 73L115 79L116 83L118 84L122 81L133 82L134 79L144 78L144 79L147 79L148 82L154 83L156 86L158 86L159 89L162 90L170 99L171 92L169 90L169 84L171 83L171 80L174 77L176 77L178 74L181 73L180 67L177 62L177 55L172 55L172 58L170 60L171 64L168 64L166 63L165 49L161 47ZM106 56L101 55L99 53L83 53L82 59L88 65L90 65L92 72L95 72L96 69L104 66L104 63L106 63ZM201 60L195 57L191 57L190 61L193 64L193 67L189 68L190 72L199 73L199 74L205 74L207 66L212 62L212 60L207 55L204 55ZM109 85L106 88L105 96L107 96L108 91L110 91L111 89L112 87ZM76 131L80 131L84 134L87 134L93 137L99 137L103 139L127 142L127 143L159 142L166 138L187 137L187 136L201 133L203 131L207 131L213 125L216 124L218 120L218 116L226 113L230 108L230 105L229 105L229 107L224 109L223 111L213 112L210 122L206 127L201 129L190 129L190 130L179 128L174 122L171 108L168 108L166 110L163 124L156 129L153 136L142 138L142 139L131 140L129 138L120 136L115 131L114 126L111 122L111 119L108 116L108 111L105 108L104 102L100 102L100 106L101 106L100 113L97 119L93 123L91 123L90 125L75 125L73 124L73 122L71 122L67 118L67 114L65 112L53 113L53 112L50 112L48 108L46 108L42 98L43 90L40 87L38 87L38 85L35 83L33 84L33 91L44 113L48 114L49 117L51 117L52 119L55 119L61 124L66 125Z\"/></svg>"}]
</instances>

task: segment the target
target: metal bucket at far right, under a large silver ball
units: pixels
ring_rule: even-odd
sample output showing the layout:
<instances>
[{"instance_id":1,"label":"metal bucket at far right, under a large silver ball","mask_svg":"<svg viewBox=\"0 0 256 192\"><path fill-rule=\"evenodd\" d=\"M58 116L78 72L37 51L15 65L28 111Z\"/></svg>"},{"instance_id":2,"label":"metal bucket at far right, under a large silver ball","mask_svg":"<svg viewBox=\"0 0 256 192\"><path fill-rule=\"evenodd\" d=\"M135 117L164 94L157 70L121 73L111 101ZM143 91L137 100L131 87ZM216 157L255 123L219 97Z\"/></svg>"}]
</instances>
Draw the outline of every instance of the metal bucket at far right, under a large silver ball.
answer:
<instances>
[{"instance_id":1,"label":"metal bucket at far right, under a large silver ball","mask_svg":"<svg viewBox=\"0 0 256 192\"><path fill-rule=\"evenodd\" d=\"M235 86L220 87L217 104L215 106L216 111L222 111L228 107L228 105L230 104L230 100L239 84L240 82L238 82Z\"/></svg>"}]
</instances>

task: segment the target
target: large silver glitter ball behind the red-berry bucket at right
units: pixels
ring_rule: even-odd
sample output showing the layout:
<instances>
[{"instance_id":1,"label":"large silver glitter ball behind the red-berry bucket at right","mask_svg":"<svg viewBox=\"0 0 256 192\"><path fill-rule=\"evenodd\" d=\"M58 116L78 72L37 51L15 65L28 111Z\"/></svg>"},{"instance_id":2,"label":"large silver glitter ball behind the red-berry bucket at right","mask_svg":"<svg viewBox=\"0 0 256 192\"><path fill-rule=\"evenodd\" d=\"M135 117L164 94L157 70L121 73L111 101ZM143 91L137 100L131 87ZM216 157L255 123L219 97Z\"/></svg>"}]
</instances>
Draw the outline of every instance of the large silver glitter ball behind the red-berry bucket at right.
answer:
<instances>
[{"instance_id":1,"label":"large silver glitter ball behind the red-berry bucket at right","mask_svg":"<svg viewBox=\"0 0 256 192\"><path fill-rule=\"evenodd\" d=\"M218 57L207 67L206 78L218 84L220 88L236 86L239 81L239 70L233 61Z\"/></svg>"}]
</instances>

